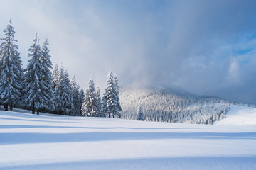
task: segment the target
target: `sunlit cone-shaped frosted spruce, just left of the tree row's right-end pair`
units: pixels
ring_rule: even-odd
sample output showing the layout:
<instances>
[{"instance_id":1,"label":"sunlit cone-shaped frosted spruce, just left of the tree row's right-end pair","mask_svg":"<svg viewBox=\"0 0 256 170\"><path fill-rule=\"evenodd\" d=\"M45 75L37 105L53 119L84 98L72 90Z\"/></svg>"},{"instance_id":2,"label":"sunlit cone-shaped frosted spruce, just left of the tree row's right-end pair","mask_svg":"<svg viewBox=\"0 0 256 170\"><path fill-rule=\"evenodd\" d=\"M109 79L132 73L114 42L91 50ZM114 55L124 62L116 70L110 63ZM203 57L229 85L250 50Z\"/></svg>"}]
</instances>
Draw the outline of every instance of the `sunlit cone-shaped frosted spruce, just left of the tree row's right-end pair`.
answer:
<instances>
[{"instance_id":1,"label":"sunlit cone-shaped frosted spruce, just left of the tree row's right-end pair","mask_svg":"<svg viewBox=\"0 0 256 170\"><path fill-rule=\"evenodd\" d=\"M82 115L84 116L98 116L97 112L98 101L95 86L92 77L89 81L89 87L85 92L85 99L82 103Z\"/></svg>"}]
</instances>

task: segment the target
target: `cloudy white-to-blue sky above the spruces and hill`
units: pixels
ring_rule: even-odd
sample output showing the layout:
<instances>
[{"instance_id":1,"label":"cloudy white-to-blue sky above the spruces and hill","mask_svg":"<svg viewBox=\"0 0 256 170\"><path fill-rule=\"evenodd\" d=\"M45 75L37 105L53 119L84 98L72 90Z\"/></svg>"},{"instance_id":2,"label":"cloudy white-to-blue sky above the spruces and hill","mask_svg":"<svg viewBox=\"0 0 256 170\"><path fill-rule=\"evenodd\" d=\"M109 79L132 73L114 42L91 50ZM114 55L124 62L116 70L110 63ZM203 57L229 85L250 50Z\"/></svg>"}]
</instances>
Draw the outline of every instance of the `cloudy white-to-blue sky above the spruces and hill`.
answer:
<instances>
[{"instance_id":1,"label":"cloudy white-to-blue sky above the spruces and hill","mask_svg":"<svg viewBox=\"0 0 256 170\"><path fill-rule=\"evenodd\" d=\"M23 67L35 33L80 87L167 86L256 103L256 1L2 1ZM3 37L3 34L0 34Z\"/></svg>"}]
</instances>

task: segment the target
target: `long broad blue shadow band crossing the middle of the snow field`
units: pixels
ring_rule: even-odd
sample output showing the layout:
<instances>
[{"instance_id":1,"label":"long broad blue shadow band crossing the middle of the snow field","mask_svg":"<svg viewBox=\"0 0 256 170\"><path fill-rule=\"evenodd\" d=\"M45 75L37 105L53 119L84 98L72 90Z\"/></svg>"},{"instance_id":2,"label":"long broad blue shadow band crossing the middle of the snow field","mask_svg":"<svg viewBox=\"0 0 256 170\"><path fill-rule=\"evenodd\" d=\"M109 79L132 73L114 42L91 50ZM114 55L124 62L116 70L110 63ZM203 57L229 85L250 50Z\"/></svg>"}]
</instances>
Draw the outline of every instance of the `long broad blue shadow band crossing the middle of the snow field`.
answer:
<instances>
[{"instance_id":1,"label":"long broad blue shadow band crossing the middle of the snow field","mask_svg":"<svg viewBox=\"0 0 256 170\"><path fill-rule=\"evenodd\" d=\"M204 140L255 140L256 132L80 132L80 133L0 133L0 145L90 142L102 140L161 140L161 139L204 139Z\"/></svg>"}]
</instances>

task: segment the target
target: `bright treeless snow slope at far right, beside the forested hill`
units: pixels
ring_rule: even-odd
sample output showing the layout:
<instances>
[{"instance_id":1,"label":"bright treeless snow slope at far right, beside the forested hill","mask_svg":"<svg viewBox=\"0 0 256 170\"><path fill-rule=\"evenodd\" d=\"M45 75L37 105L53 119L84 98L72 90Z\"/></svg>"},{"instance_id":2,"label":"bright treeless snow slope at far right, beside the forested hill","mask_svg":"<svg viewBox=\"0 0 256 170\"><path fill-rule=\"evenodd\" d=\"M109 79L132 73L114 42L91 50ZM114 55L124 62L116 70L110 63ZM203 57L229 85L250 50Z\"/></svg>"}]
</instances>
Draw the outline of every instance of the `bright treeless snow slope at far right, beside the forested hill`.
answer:
<instances>
[{"instance_id":1,"label":"bright treeless snow slope at far right, beside the forested hill","mask_svg":"<svg viewBox=\"0 0 256 170\"><path fill-rule=\"evenodd\" d=\"M256 125L256 108L230 106L226 118L216 122L218 125Z\"/></svg>"}]
</instances>

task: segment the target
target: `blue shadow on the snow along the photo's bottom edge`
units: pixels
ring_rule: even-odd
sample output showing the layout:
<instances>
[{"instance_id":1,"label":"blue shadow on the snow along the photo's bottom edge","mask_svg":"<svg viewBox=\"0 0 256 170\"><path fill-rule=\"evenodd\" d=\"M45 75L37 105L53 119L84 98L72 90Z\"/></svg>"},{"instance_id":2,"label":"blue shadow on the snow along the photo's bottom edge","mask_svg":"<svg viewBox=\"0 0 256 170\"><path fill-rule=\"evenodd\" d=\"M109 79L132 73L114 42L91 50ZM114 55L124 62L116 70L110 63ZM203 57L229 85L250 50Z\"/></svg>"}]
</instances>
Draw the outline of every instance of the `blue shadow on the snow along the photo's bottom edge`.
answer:
<instances>
[{"instance_id":1,"label":"blue shadow on the snow along the photo's bottom edge","mask_svg":"<svg viewBox=\"0 0 256 170\"><path fill-rule=\"evenodd\" d=\"M153 157L138 159L110 159L51 164L17 165L14 169L247 169L255 170L256 157ZM1 168L1 166L0 166Z\"/></svg>"}]
</instances>

